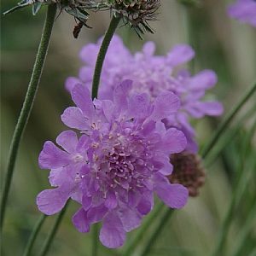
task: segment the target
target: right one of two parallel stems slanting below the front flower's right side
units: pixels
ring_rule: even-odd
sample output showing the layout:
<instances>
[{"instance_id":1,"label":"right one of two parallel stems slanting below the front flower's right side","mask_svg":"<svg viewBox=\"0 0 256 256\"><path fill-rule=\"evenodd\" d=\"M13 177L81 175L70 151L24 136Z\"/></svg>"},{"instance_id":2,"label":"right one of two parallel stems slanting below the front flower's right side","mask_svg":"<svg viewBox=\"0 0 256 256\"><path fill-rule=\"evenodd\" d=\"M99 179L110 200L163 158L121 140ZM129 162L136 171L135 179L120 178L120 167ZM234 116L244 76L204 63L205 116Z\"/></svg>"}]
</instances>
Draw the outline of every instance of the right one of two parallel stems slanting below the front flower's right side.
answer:
<instances>
[{"instance_id":1,"label":"right one of two parallel stems slanting below the front flower's right side","mask_svg":"<svg viewBox=\"0 0 256 256\"><path fill-rule=\"evenodd\" d=\"M168 221L169 218L171 218L172 213L174 212L175 209L172 208L168 208L164 214L164 216L161 218L160 223L158 224L158 226L156 227L156 229L154 230L154 233L152 234L152 236L149 238L148 242L146 242L144 244L144 249L143 252L140 253L141 256L146 256L148 255L148 251L150 250L150 248L152 247L152 245L154 244L154 241L156 239L157 236L160 235L160 231L163 230L164 226L166 225L166 222Z\"/></svg>"}]
</instances>

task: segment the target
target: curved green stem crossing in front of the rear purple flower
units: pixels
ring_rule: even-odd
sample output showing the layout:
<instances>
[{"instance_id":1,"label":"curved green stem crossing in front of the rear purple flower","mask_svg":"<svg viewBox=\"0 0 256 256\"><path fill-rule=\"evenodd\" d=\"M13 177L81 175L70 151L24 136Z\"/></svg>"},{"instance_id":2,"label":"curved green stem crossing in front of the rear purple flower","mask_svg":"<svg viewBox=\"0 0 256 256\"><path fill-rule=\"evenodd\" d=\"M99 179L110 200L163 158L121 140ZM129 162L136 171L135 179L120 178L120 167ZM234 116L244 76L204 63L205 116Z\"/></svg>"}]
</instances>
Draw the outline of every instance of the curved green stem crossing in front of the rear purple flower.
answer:
<instances>
[{"instance_id":1,"label":"curved green stem crossing in front of the rear purple flower","mask_svg":"<svg viewBox=\"0 0 256 256\"><path fill-rule=\"evenodd\" d=\"M108 30L105 33L105 36L103 38L102 46L97 56L96 66L95 66L93 80L92 80L92 90L91 90L92 99L97 97L100 79L101 79L103 61L105 59L105 56L108 50L108 45L110 44L110 41L113 38L113 33L115 32L117 26L119 25L119 20L120 18L116 18L115 16L113 16L108 26Z\"/></svg>"}]
</instances>

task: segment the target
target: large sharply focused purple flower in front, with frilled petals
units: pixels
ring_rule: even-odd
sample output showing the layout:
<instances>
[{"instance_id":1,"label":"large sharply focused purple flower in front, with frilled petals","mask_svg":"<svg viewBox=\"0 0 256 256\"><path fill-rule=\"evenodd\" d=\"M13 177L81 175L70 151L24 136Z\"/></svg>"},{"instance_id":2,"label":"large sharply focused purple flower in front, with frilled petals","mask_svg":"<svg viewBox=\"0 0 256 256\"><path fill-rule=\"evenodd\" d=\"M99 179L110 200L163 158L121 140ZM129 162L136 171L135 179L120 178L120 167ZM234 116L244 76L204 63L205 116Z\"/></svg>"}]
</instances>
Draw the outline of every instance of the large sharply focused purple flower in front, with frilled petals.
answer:
<instances>
[{"instance_id":1,"label":"large sharply focused purple flower in front, with frilled petals","mask_svg":"<svg viewBox=\"0 0 256 256\"><path fill-rule=\"evenodd\" d=\"M56 189L38 195L38 208L46 214L61 210L71 197L81 205L73 216L80 232L103 219L100 241L120 247L125 234L141 224L154 206L154 192L168 207L183 207L188 190L171 184L170 154L183 151L186 138L175 128L166 129L161 119L177 113L179 98L163 91L150 102L145 94L130 93L131 80L113 89L113 101L90 99L83 84L71 90L77 107L61 115L69 127L57 143L46 142L39 156L42 168L52 169L50 183Z\"/></svg>"}]
</instances>

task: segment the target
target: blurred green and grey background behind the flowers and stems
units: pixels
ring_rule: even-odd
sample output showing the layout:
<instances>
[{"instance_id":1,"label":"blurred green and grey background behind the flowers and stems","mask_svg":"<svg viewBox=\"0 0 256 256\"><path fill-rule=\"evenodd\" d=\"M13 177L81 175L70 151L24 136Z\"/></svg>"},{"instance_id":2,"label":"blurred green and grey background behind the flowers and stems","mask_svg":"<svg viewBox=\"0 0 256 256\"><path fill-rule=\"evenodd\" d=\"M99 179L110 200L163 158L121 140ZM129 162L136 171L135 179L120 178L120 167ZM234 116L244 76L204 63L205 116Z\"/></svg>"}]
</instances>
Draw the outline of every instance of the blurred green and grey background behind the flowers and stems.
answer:
<instances>
[{"instance_id":1,"label":"blurred green and grey background behind the flowers and stems","mask_svg":"<svg viewBox=\"0 0 256 256\"><path fill-rule=\"evenodd\" d=\"M165 55L174 44L187 43L195 49L195 59L190 65L194 73L211 68L218 73L218 84L208 91L224 104L224 115L218 119L204 118L195 122L201 147L224 118L234 108L247 87L256 78L256 29L231 20L226 15L229 1L201 1L200 8L185 8L175 1L161 1L159 20L151 23L154 35L147 34L144 41L137 34L119 27L117 33L124 38L132 52L141 50L152 40L157 54ZM16 1L1 3L2 12L15 6ZM9 144L15 129L20 108L26 94L38 49L47 7L32 16L32 8L17 10L1 16L1 175L5 171ZM58 11L60 12L60 11ZM73 102L64 89L68 76L77 76L79 50L84 44L96 43L104 34L110 21L110 12L90 12L88 25L79 38L73 38L72 16L62 12L55 20L44 73L32 114L20 143L20 151L11 183L8 208L2 237L3 256L21 255L40 212L36 196L49 189L49 171L38 167L38 154L46 140L67 129L60 115ZM237 115L229 129L221 137L215 150L206 160L207 183L197 198L189 198L188 205L174 212L172 218L160 230L148 255L210 255L216 245L223 221L235 201L230 215L229 229L224 230L223 255L250 255L256 245L256 163L255 163L255 96ZM215 157L214 152L220 154ZM237 189L239 188L239 189ZM237 192L238 191L238 192ZM236 196L235 196L236 195ZM235 197L235 199L234 199ZM73 213L79 208L72 202L67 209L61 227L55 236L49 255L90 255L92 234L81 234L72 224ZM150 229L143 236L132 255L140 255L143 244L157 227L164 208ZM152 212L151 212L152 213ZM150 215L150 214L148 214ZM251 217L250 217L251 216ZM144 218L143 222L148 218ZM250 219L249 224L248 219ZM38 236L32 255L38 255L55 216L47 218ZM99 243L98 255L122 255L125 247L138 230L127 234L125 245L110 250ZM241 250L236 249L241 244ZM256 255L256 252L254 254Z\"/></svg>"}]
</instances>

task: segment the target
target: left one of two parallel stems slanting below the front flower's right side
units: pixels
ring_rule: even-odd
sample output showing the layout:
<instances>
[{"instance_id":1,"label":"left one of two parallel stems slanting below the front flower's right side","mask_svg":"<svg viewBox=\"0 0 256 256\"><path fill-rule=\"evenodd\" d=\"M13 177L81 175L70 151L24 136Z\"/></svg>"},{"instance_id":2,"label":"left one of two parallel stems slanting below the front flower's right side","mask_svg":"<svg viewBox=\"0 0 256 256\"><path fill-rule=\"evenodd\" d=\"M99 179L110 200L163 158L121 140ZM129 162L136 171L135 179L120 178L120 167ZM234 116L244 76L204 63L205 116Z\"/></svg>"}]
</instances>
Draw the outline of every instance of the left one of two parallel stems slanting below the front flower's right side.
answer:
<instances>
[{"instance_id":1,"label":"left one of two parallel stems slanting below the front flower's right side","mask_svg":"<svg viewBox=\"0 0 256 256\"><path fill-rule=\"evenodd\" d=\"M123 256L129 256L131 255L132 250L137 247L137 244L141 241L142 237L146 234L149 226L154 223L154 220L159 216L159 212L162 210L162 208L165 206L165 204L160 201L158 205L154 208L154 211L150 213L148 218L146 219L145 223L140 227L140 229L137 231L137 235L134 237L134 239L131 241L125 252L123 253Z\"/></svg>"}]
</instances>

